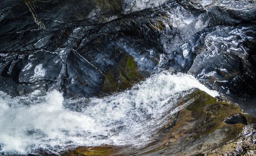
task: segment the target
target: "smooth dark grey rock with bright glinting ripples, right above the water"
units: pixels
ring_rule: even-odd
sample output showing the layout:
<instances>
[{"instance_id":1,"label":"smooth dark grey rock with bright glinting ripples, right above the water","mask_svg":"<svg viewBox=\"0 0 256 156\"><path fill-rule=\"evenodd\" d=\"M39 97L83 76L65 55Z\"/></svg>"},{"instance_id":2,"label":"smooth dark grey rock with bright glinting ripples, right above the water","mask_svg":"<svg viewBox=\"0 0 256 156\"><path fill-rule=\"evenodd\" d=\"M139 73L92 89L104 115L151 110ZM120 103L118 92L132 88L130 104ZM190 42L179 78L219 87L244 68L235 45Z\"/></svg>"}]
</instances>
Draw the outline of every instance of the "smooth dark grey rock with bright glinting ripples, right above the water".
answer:
<instances>
[{"instance_id":1,"label":"smooth dark grey rock with bright glinting ripples, right above the water","mask_svg":"<svg viewBox=\"0 0 256 156\"><path fill-rule=\"evenodd\" d=\"M239 35L240 27L216 27L204 37L202 49L194 49L198 55L188 73L231 96L254 96L256 70L249 60L249 50L243 49L254 42L248 36ZM254 27L244 33L254 35ZM228 34L228 35L225 35ZM232 35L230 35L232 34ZM225 37L226 36L226 37ZM243 48L244 47L244 48ZM249 86L246 84L250 84ZM231 87L232 86L232 87ZM238 92L241 91L241 92Z\"/></svg>"}]
</instances>

